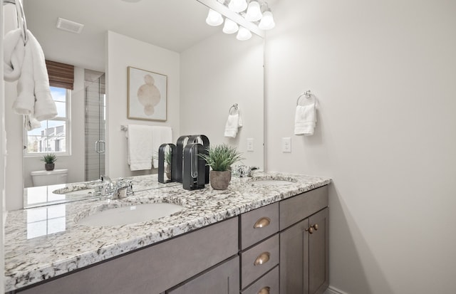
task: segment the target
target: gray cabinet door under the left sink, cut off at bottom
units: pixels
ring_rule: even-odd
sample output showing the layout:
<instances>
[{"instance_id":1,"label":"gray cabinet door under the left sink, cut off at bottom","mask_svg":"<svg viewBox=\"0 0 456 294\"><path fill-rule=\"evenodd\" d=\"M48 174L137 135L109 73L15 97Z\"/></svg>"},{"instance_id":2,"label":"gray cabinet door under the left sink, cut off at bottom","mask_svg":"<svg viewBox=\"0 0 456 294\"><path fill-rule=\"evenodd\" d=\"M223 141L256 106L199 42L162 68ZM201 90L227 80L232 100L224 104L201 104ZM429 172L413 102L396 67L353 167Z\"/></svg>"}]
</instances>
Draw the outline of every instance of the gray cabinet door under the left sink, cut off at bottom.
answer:
<instances>
[{"instance_id":1,"label":"gray cabinet door under the left sink, cut off at bottom","mask_svg":"<svg viewBox=\"0 0 456 294\"><path fill-rule=\"evenodd\" d=\"M239 294L239 257L178 285L167 294Z\"/></svg>"}]
</instances>

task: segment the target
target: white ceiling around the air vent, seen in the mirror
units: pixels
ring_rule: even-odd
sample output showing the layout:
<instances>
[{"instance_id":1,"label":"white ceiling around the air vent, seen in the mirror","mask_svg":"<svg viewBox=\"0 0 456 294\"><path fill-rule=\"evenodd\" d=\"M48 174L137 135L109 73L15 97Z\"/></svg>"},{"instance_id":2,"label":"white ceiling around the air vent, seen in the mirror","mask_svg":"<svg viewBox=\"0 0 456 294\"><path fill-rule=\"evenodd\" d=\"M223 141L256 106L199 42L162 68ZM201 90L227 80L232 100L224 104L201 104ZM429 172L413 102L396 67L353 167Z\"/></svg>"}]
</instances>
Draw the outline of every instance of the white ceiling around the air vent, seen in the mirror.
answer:
<instances>
[{"instance_id":1,"label":"white ceiling around the air vent, seen in the mirror","mask_svg":"<svg viewBox=\"0 0 456 294\"><path fill-rule=\"evenodd\" d=\"M29 30L47 59L105 69L105 32L181 52L221 28L207 26L197 0L23 0ZM81 34L56 28L58 17L83 23Z\"/></svg>"}]
</instances>

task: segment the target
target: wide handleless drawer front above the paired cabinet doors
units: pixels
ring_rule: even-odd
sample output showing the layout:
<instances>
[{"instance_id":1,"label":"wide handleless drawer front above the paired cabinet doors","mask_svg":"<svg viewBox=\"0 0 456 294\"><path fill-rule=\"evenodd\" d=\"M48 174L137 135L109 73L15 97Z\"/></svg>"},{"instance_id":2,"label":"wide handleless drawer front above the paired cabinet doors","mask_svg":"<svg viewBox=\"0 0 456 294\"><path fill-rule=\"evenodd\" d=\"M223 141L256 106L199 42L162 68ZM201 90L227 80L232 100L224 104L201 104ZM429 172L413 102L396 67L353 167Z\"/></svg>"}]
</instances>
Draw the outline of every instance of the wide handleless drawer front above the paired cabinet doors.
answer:
<instances>
[{"instance_id":1,"label":"wide handleless drawer front above the paired cabinet doors","mask_svg":"<svg viewBox=\"0 0 456 294\"><path fill-rule=\"evenodd\" d=\"M280 230L328 206L328 186L308 191L280 202Z\"/></svg>"}]
</instances>

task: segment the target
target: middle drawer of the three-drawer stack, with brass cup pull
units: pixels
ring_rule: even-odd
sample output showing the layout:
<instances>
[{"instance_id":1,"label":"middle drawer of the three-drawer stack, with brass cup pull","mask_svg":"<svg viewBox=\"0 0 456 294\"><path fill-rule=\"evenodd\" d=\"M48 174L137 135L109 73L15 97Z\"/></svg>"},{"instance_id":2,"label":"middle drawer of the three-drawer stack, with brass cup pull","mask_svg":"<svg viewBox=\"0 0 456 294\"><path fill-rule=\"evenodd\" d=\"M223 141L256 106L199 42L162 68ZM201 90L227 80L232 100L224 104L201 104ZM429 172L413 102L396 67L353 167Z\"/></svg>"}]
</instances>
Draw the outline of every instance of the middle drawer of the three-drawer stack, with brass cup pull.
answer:
<instances>
[{"instance_id":1,"label":"middle drawer of the three-drawer stack, with brass cup pull","mask_svg":"<svg viewBox=\"0 0 456 294\"><path fill-rule=\"evenodd\" d=\"M241 288L279 264L279 234L241 252Z\"/></svg>"}]
</instances>

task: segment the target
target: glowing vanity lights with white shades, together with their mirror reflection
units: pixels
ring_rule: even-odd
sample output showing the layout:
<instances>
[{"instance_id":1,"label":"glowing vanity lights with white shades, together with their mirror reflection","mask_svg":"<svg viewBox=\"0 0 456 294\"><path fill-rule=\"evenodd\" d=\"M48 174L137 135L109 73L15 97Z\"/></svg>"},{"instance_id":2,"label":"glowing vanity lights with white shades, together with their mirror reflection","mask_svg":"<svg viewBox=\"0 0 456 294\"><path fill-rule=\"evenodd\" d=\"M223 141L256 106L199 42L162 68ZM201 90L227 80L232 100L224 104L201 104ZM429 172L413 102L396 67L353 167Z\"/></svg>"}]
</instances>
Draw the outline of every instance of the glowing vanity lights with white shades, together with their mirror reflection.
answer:
<instances>
[{"instance_id":1,"label":"glowing vanity lights with white shades, together with their mirror reflection","mask_svg":"<svg viewBox=\"0 0 456 294\"><path fill-rule=\"evenodd\" d=\"M238 40L252 38L252 33L264 38L265 30L274 28L274 18L266 0L197 0L209 7L206 23L219 26L224 33L236 33Z\"/></svg>"}]
</instances>

